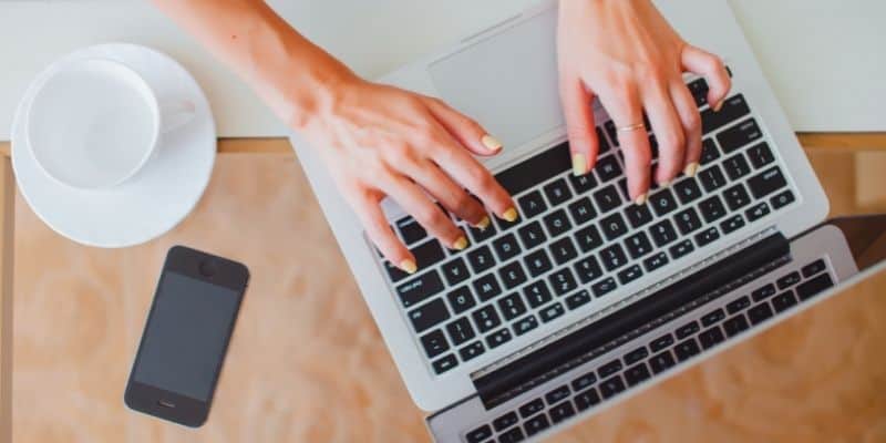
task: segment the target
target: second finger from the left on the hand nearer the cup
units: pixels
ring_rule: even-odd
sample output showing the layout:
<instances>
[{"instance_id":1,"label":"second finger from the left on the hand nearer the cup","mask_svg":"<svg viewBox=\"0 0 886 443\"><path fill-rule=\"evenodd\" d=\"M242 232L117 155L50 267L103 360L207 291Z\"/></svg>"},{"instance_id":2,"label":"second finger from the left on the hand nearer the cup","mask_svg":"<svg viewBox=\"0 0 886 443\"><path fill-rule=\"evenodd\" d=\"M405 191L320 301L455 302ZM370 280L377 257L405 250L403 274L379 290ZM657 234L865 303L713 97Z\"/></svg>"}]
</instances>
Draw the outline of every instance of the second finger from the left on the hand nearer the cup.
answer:
<instances>
[{"instance_id":1,"label":"second finger from the left on the hand nearer the cup","mask_svg":"<svg viewBox=\"0 0 886 443\"><path fill-rule=\"evenodd\" d=\"M382 190L447 248L461 250L467 247L467 237L450 216L405 176L393 175L384 183Z\"/></svg>"}]
</instances>

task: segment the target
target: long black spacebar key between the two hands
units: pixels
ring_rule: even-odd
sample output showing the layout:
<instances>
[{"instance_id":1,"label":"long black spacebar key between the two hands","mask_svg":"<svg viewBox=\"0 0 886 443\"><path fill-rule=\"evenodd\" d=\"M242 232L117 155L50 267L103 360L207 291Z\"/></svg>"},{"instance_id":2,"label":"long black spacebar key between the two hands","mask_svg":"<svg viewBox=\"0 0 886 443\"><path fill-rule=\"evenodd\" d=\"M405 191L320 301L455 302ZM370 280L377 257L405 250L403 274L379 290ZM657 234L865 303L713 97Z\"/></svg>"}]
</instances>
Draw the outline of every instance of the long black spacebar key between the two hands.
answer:
<instances>
[{"instance_id":1,"label":"long black spacebar key between the two hands","mask_svg":"<svg viewBox=\"0 0 886 443\"><path fill-rule=\"evenodd\" d=\"M517 195L569 168L569 145L563 143L502 171L495 178L511 195Z\"/></svg>"}]
</instances>

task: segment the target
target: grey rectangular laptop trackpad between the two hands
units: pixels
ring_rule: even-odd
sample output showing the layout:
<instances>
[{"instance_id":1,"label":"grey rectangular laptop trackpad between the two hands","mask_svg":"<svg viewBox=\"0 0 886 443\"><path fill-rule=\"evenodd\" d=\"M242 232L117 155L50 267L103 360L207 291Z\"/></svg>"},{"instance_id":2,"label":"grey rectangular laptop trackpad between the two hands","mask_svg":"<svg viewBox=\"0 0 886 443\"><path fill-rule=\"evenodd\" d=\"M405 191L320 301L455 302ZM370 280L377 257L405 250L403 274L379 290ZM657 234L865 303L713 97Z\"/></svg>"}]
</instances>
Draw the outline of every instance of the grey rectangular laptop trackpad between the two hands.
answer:
<instances>
[{"instance_id":1,"label":"grey rectangular laptop trackpad between the two hands","mask_svg":"<svg viewBox=\"0 0 886 443\"><path fill-rule=\"evenodd\" d=\"M433 62L441 97L515 147L563 125L557 10L550 9Z\"/></svg>"}]
</instances>

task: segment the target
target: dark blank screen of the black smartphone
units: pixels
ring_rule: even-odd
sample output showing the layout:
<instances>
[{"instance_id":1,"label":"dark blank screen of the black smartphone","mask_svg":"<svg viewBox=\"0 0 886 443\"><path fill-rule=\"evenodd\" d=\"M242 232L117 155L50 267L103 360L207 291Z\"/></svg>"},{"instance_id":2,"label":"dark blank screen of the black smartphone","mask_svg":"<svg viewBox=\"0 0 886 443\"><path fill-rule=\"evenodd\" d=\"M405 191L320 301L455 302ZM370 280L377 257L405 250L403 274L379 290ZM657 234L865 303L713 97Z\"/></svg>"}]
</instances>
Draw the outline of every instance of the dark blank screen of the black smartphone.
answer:
<instances>
[{"instance_id":1,"label":"dark blank screen of the black smartphone","mask_svg":"<svg viewBox=\"0 0 886 443\"><path fill-rule=\"evenodd\" d=\"M234 289L175 271L164 274L133 380L207 401L238 307Z\"/></svg>"}]
</instances>

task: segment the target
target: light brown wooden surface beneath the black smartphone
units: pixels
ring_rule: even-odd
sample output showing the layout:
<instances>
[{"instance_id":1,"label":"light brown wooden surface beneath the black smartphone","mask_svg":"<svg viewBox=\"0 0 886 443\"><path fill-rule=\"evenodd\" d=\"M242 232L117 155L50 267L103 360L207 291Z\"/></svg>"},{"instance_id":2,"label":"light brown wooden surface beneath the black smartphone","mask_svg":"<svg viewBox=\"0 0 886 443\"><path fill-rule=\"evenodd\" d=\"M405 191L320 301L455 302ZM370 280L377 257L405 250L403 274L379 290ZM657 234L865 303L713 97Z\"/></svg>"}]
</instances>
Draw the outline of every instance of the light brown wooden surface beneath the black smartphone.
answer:
<instances>
[{"instance_id":1,"label":"light brown wooden surface beneath the black smartphone","mask_svg":"<svg viewBox=\"0 0 886 443\"><path fill-rule=\"evenodd\" d=\"M886 210L886 134L801 142L833 214ZM194 214L123 250L53 234L14 195L0 157L0 442L427 440L288 142L223 140L219 152ZM216 406L198 431L122 401L176 243L253 269ZM884 284L874 278L554 440L886 441Z\"/></svg>"}]
</instances>

